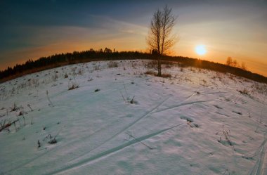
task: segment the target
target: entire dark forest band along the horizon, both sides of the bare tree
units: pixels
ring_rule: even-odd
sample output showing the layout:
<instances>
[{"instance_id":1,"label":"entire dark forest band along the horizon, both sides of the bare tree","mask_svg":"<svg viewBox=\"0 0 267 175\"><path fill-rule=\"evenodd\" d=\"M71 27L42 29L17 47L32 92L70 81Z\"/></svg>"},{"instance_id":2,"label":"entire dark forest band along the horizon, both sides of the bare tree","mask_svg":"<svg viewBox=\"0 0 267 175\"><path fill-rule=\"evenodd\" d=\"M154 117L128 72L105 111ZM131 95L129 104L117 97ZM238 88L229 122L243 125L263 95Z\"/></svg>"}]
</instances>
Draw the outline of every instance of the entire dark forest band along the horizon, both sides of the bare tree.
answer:
<instances>
[{"instance_id":1,"label":"entire dark forest band along the horizon, both sides of the bare tree","mask_svg":"<svg viewBox=\"0 0 267 175\"><path fill-rule=\"evenodd\" d=\"M112 51L110 48L105 48L103 51L94 51L92 48L89 51L74 51L72 53L61 53L48 57L41 57L37 60L27 60L22 65L15 65L13 68L8 67L6 70L0 71L0 82L6 82L9 79L14 79L25 74L47 70L53 67L60 67L63 65L70 65L75 63L85 63L95 60L135 60L148 59L154 60L157 56L152 53L142 53L138 51ZM252 73L243 70L239 67L231 67L221 63L214 63L207 60L199 60L196 58L188 58L181 56L163 56L162 61L178 62L183 67L198 67L207 70L215 70L224 73L235 74L240 77L252 79L256 82L263 82L267 84L267 77L260 74Z\"/></svg>"}]
</instances>

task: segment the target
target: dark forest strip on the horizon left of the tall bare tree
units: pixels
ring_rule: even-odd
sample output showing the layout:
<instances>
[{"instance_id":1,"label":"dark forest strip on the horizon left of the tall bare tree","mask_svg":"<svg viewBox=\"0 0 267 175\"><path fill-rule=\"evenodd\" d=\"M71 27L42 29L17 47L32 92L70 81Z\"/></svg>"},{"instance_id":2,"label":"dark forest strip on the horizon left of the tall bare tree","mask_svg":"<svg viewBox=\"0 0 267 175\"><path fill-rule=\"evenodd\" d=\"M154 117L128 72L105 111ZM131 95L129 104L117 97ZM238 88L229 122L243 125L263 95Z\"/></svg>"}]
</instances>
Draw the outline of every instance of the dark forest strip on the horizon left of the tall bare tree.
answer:
<instances>
[{"instance_id":1,"label":"dark forest strip on the horizon left of the tall bare tree","mask_svg":"<svg viewBox=\"0 0 267 175\"><path fill-rule=\"evenodd\" d=\"M103 51L74 51L72 53L60 53L53 56L41 57L37 60L27 60L22 65L15 65L13 68L8 67L6 70L0 71L0 81L4 82L8 79L22 76L24 74L46 70L52 67L62 65L70 65L75 63L84 63L93 60L122 60L122 59L150 59L149 53L141 53L138 51L113 51L105 48Z\"/></svg>"}]
</instances>

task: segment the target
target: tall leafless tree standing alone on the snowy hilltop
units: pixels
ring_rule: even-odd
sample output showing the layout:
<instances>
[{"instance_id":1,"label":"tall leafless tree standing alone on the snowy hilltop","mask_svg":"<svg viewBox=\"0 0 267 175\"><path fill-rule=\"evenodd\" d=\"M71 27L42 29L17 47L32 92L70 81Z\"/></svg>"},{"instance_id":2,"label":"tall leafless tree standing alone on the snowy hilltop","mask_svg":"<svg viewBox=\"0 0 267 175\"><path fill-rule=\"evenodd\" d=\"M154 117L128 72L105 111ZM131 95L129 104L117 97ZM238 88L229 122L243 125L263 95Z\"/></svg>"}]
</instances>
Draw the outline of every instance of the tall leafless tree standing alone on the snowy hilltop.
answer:
<instances>
[{"instance_id":1,"label":"tall leafless tree standing alone on the snowy hilltop","mask_svg":"<svg viewBox=\"0 0 267 175\"><path fill-rule=\"evenodd\" d=\"M148 46L157 53L157 76L162 76L162 56L167 54L169 49L177 41L171 31L175 25L176 16L171 13L171 8L165 6L162 10L157 10L153 14L150 31L148 32Z\"/></svg>"}]
</instances>

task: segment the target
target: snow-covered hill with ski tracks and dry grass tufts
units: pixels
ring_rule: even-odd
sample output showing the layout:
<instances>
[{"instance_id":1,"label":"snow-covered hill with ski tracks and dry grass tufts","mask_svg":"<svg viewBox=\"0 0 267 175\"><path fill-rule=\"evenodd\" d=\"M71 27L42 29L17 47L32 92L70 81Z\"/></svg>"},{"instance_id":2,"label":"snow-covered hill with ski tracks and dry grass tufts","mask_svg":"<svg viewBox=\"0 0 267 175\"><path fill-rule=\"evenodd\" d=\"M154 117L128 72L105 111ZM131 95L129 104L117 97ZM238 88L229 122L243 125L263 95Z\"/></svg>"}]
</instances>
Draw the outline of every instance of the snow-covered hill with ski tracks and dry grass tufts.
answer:
<instances>
[{"instance_id":1,"label":"snow-covered hill with ski tracks and dry grass tufts","mask_svg":"<svg viewBox=\"0 0 267 175\"><path fill-rule=\"evenodd\" d=\"M267 174L266 84L148 62L0 84L0 174Z\"/></svg>"}]
</instances>

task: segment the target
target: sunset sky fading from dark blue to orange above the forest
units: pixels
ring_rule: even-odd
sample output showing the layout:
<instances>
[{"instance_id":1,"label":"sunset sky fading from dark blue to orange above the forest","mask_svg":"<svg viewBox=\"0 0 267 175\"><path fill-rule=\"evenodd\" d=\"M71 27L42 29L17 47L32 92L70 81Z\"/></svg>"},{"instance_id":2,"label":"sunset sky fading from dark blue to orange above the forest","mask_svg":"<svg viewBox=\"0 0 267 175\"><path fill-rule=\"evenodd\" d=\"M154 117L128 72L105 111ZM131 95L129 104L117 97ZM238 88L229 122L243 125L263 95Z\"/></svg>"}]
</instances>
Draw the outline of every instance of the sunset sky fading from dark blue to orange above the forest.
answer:
<instances>
[{"instance_id":1,"label":"sunset sky fading from dark blue to orange above the forest","mask_svg":"<svg viewBox=\"0 0 267 175\"><path fill-rule=\"evenodd\" d=\"M267 76L267 0L1 0L0 70L90 48L148 51L150 20L165 5L177 16L172 56L217 63L231 57Z\"/></svg>"}]
</instances>

